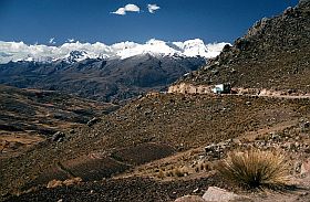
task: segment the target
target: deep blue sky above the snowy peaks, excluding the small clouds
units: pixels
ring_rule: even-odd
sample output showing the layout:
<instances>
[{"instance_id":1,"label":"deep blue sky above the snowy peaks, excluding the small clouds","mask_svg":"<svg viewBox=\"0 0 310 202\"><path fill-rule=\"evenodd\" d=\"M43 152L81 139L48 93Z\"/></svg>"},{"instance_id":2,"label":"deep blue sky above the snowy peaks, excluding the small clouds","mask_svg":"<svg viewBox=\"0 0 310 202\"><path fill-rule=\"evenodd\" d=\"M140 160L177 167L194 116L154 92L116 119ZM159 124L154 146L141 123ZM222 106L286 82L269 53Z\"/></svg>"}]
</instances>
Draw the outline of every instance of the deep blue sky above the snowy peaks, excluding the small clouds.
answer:
<instances>
[{"instance_id":1,"label":"deep blue sky above the snowy peaks, excluding the small clouds","mask_svg":"<svg viewBox=\"0 0 310 202\"><path fill-rule=\"evenodd\" d=\"M298 0L0 0L0 41L55 45L68 39L112 44L149 39L234 42L264 17ZM113 14L132 3L140 12ZM161 9L149 13L147 4Z\"/></svg>"}]
</instances>

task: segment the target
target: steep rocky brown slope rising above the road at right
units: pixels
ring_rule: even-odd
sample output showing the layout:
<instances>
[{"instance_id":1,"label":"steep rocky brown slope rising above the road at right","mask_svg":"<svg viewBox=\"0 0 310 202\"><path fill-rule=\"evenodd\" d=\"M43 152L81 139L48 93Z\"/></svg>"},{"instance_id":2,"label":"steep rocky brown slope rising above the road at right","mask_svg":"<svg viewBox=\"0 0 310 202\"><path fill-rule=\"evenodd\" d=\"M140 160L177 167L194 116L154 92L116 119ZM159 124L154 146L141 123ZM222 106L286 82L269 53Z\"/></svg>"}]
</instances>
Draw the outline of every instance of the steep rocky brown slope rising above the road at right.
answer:
<instances>
[{"instance_id":1,"label":"steep rocky brown slope rising above the road at right","mask_svg":"<svg viewBox=\"0 0 310 202\"><path fill-rule=\"evenodd\" d=\"M310 92L310 2L257 22L208 65L178 83Z\"/></svg>"}]
</instances>

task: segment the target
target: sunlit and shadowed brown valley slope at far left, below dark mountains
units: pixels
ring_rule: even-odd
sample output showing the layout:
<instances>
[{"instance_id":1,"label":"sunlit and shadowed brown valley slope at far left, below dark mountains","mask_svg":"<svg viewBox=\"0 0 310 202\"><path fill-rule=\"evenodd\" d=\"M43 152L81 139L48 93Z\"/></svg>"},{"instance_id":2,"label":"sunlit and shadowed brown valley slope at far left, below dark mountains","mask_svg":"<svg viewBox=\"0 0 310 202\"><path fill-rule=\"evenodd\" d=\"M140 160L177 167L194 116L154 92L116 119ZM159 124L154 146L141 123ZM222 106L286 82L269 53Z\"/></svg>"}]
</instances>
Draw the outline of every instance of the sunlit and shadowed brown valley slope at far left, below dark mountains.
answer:
<instances>
[{"instance_id":1,"label":"sunlit and shadowed brown valley slope at far left, below dark mountains","mask_svg":"<svg viewBox=\"0 0 310 202\"><path fill-rule=\"evenodd\" d=\"M0 158L118 108L55 92L3 85L0 100Z\"/></svg>"}]
</instances>

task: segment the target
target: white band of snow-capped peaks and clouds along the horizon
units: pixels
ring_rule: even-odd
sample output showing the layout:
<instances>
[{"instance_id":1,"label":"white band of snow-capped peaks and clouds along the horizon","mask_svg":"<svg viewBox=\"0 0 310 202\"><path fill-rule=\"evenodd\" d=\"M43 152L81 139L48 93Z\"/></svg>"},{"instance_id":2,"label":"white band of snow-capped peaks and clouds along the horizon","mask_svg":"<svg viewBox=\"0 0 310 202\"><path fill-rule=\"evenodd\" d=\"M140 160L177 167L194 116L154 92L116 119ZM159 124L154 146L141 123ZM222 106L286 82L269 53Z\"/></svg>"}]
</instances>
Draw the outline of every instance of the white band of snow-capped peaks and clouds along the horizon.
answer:
<instances>
[{"instance_id":1,"label":"white band of snow-capped peaks and clouds along the horizon","mask_svg":"<svg viewBox=\"0 0 310 202\"><path fill-rule=\"evenodd\" d=\"M60 46L52 45L28 45L23 42L0 41L0 63L10 61L39 61L53 62L66 60L68 62L79 62L85 59L127 59L140 54L152 54L161 56L185 56L205 57L217 56L223 47L228 43L205 44L203 40L195 39L185 42L164 42L149 40L145 44L135 42L121 42L106 45L101 42L64 43Z\"/></svg>"}]
</instances>

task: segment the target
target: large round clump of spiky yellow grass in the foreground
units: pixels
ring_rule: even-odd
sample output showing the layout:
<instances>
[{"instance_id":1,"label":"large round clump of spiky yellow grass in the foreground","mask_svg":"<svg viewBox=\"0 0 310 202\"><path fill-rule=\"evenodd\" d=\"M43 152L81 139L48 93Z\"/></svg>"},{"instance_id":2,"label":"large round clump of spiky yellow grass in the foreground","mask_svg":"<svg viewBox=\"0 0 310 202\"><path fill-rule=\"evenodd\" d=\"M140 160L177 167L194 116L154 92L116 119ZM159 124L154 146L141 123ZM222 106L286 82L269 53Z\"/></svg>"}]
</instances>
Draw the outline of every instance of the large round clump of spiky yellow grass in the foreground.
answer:
<instances>
[{"instance_id":1,"label":"large round clump of spiky yellow grass in the foreground","mask_svg":"<svg viewBox=\"0 0 310 202\"><path fill-rule=\"evenodd\" d=\"M232 151L216 169L224 179L245 189L281 189L289 182L288 163L279 152Z\"/></svg>"}]
</instances>

